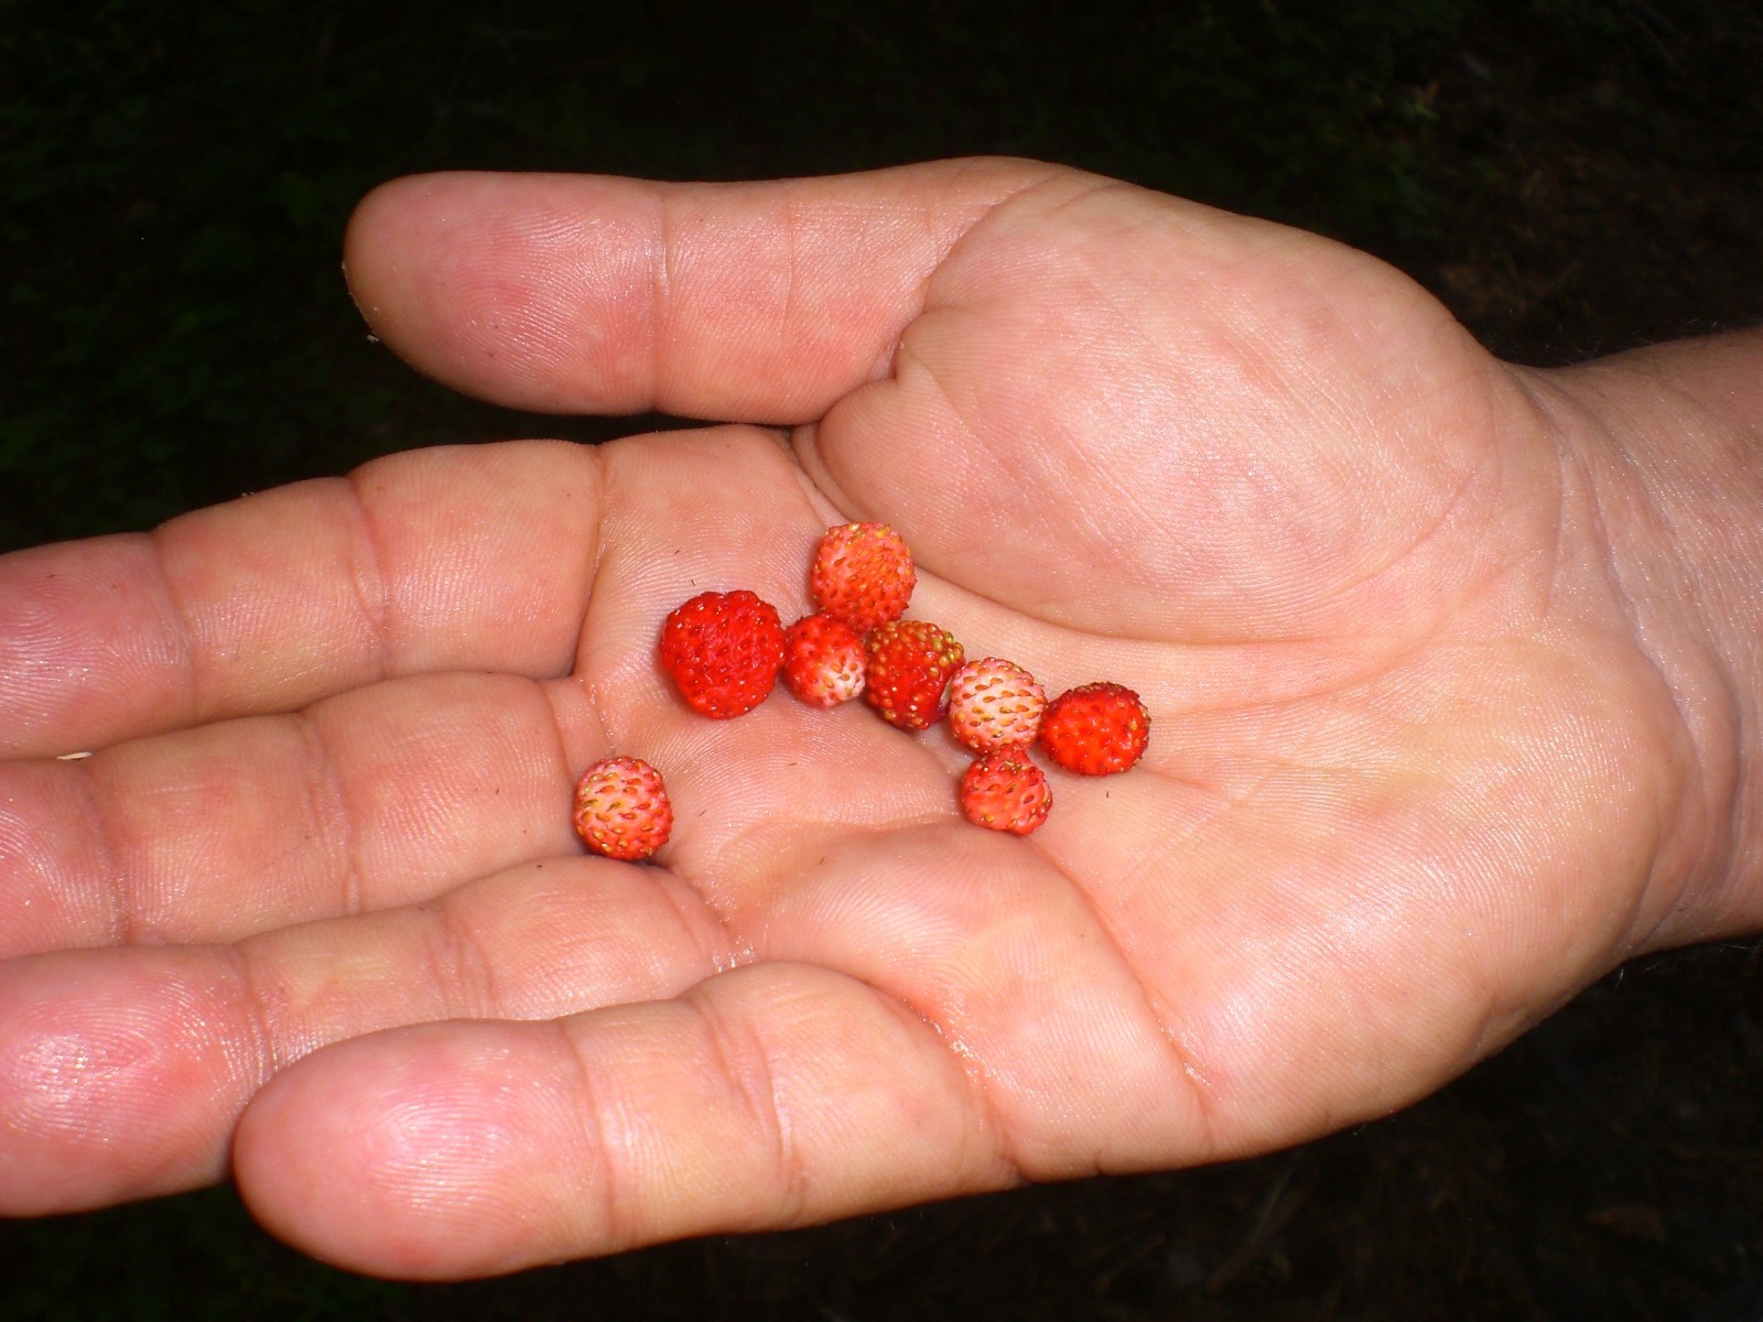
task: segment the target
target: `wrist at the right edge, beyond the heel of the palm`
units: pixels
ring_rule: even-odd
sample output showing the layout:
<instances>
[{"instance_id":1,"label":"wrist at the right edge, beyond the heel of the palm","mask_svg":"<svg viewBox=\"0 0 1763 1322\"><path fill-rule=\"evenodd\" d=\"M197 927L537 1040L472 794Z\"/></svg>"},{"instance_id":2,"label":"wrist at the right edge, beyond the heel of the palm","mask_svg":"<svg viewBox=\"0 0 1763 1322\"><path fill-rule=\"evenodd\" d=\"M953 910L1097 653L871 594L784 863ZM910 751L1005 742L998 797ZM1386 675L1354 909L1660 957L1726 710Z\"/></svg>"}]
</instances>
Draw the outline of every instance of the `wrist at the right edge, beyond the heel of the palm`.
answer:
<instances>
[{"instance_id":1,"label":"wrist at the right edge, beyond the heel of the palm","mask_svg":"<svg viewBox=\"0 0 1763 1322\"><path fill-rule=\"evenodd\" d=\"M1687 735L1643 947L1763 927L1763 331L1532 375Z\"/></svg>"}]
</instances>

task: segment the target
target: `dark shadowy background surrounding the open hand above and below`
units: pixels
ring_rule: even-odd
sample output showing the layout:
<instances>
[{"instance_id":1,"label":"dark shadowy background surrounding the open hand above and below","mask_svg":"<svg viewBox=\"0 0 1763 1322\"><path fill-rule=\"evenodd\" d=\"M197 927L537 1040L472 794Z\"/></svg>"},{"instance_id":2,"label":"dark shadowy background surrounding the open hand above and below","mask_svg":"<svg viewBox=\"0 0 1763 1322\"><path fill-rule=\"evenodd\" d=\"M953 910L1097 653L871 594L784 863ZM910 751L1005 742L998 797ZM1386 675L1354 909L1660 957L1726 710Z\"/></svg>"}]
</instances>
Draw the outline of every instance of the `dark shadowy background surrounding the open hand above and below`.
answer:
<instances>
[{"instance_id":1,"label":"dark shadowy background surrounding the open hand above and below","mask_svg":"<svg viewBox=\"0 0 1763 1322\"><path fill-rule=\"evenodd\" d=\"M1008 152L1333 234L1557 365L1763 321L1759 69L1735 0L0 0L0 550L670 421L458 400L372 344L338 243L395 175ZM0 1318L1696 1318L1763 1274L1759 1176L1738 943L1255 1162L450 1287L312 1264L213 1190L0 1225Z\"/></svg>"}]
</instances>

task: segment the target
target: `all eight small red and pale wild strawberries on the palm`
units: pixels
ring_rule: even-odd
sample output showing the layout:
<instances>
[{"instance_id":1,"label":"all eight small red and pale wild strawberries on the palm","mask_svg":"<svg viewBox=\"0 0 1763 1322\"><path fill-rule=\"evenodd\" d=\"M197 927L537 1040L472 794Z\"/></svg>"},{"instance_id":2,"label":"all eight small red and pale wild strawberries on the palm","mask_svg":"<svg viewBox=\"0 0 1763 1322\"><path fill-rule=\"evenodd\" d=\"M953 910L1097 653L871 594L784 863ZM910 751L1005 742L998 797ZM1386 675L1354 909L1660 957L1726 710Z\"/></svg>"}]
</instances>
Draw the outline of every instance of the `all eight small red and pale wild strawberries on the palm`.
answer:
<instances>
[{"instance_id":1,"label":"all eight small red and pale wild strawberries on the palm","mask_svg":"<svg viewBox=\"0 0 1763 1322\"><path fill-rule=\"evenodd\" d=\"M911 550L894 529L841 524L815 553L813 615L786 629L776 606L753 592L700 592L666 617L661 666L688 707L716 719L751 712L779 675L813 707L862 696L901 730L947 717L975 754L961 777L963 814L1015 836L1035 830L1053 807L1031 747L1081 776L1111 776L1139 760L1151 719L1137 693L1098 682L1049 702L1014 661L968 661L947 629L901 619L915 585ZM647 761L603 758L577 784L575 825L598 853L647 858L666 841L673 809Z\"/></svg>"}]
</instances>

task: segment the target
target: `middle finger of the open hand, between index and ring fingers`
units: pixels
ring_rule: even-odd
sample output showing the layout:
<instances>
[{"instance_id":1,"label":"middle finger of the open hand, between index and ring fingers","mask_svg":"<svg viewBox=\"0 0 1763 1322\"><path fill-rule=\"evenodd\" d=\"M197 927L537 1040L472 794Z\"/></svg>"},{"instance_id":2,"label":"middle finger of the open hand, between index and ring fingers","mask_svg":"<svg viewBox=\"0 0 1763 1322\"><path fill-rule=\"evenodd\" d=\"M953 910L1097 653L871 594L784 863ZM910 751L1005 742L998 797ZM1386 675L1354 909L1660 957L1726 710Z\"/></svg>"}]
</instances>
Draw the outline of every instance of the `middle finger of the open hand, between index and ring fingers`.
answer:
<instances>
[{"instance_id":1,"label":"middle finger of the open hand, between index and ring fingers","mask_svg":"<svg viewBox=\"0 0 1763 1322\"><path fill-rule=\"evenodd\" d=\"M0 763L0 957L231 941L575 853L585 760L552 694L420 675L76 761Z\"/></svg>"}]
</instances>

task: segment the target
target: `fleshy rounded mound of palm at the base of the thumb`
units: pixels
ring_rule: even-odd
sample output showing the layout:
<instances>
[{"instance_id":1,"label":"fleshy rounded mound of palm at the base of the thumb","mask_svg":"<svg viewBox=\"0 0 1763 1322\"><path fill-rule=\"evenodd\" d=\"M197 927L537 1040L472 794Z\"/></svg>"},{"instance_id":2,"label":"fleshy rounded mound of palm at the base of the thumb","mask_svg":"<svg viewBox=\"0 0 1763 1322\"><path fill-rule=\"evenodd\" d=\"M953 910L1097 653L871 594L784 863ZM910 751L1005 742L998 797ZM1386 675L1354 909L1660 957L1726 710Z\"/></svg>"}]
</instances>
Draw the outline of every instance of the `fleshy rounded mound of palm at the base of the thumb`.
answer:
<instances>
[{"instance_id":1,"label":"fleshy rounded mound of palm at the base of the thumb","mask_svg":"<svg viewBox=\"0 0 1763 1322\"><path fill-rule=\"evenodd\" d=\"M975 224L890 374L804 430L839 508L1040 619L1165 642L1358 635L1470 568L1527 405L1435 300L1313 234L1070 182Z\"/></svg>"}]
</instances>

